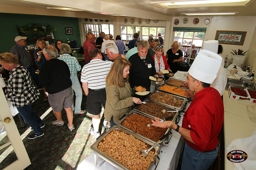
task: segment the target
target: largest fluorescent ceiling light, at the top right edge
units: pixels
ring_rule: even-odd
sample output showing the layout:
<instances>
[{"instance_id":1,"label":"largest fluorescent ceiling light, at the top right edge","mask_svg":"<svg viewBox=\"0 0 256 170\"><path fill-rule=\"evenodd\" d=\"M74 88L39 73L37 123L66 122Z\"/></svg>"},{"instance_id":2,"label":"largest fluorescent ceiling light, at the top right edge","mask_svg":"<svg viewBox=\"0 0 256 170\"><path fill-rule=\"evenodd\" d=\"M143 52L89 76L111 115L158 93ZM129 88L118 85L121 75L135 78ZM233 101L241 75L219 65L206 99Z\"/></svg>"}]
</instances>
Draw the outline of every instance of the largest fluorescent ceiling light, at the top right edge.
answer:
<instances>
[{"instance_id":1,"label":"largest fluorescent ceiling light, at the top right edge","mask_svg":"<svg viewBox=\"0 0 256 170\"><path fill-rule=\"evenodd\" d=\"M201 6L243 6L253 0L171 0L150 2L164 8L201 7Z\"/></svg>"}]
</instances>

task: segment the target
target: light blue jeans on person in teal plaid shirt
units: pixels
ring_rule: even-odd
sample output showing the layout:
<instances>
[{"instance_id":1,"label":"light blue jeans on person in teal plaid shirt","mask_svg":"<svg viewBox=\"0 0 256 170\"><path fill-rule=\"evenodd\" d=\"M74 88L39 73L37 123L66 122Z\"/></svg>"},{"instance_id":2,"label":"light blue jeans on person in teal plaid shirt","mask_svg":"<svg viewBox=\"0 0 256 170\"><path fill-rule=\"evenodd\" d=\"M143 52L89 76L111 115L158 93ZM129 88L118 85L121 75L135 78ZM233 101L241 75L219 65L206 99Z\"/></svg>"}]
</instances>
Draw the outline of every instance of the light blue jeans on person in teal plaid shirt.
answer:
<instances>
[{"instance_id":1,"label":"light blue jeans on person in teal plaid shirt","mask_svg":"<svg viewBox=\"0 0 256 170\"><path fill-rule=\"evenodd\" d=\"M71 87L73 89L72 90L73 96L74 96L74 91L76 94L75 113L79 113L79 112L81 112L81 103L82 103L82 98L83 98L82 88L81 88L80 82L77 78L77 75L70 76L70 79L72 81ZM72 105L72 109L74 110L74 103Z\"/></svg>"}]
</instances>

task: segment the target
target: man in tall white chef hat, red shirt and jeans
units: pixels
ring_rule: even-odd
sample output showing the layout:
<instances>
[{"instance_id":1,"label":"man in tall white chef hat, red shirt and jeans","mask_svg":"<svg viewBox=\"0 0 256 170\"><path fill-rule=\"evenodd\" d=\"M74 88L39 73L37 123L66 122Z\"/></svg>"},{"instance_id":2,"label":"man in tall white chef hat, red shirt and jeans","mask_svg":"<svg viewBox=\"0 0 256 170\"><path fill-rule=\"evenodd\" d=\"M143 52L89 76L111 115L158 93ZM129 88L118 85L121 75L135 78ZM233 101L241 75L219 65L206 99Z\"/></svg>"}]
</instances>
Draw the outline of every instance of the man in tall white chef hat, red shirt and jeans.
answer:
<instances>
[{"instance_id":1,"label":"man in tall white chef hat, red shirt and jeans","mask_svg":"<svg viewBox=\"0 0 256 170\"><path fill-rule=\"evenodd\" d=\"M185 138L181 169L208 169L218 156L224 106L220 93L210 84L221 61L220 55L209 50L200 50L196 56L186 80L195 98L184 114L182 127L171 121L152 121L154 126L172 128Z\"/></svg>"}]
</instances>

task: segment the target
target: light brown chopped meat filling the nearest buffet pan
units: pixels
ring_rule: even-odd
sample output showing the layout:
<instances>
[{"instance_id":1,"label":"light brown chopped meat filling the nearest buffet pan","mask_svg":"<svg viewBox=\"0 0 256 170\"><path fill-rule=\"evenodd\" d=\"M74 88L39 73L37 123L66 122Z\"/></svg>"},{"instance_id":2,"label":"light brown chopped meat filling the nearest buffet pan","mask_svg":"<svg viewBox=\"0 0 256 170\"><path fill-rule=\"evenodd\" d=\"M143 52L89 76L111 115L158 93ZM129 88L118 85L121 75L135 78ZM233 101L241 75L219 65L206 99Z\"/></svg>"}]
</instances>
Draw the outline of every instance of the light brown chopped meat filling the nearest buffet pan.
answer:
<instances>
[{"instance_id":1,"label":"light brown chopped meat filling the nearest buffet pan","mask_svg":"<svg viewBox=\"0 0 256 170\"><path fill-rule=\"evenodd\" d=\"M99 143L98 149L129 169L145 169L154 161L154 152L149 151L148 157L140 155L147 145L141 140L119 130L113 130Z\"/></svg>"}]
</instances>

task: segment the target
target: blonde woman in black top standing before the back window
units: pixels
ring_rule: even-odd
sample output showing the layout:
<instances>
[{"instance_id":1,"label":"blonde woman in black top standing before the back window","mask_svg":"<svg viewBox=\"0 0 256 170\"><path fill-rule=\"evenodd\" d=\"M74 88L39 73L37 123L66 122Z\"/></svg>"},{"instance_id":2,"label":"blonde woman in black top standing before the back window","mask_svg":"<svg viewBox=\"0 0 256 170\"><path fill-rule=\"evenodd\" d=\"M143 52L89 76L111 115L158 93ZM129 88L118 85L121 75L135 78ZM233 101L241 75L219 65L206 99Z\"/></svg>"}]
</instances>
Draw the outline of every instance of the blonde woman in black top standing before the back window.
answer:
<instances>
[{"instance_id":1,"label":"blonde woman in black top standing before the back window","mask_svg":"<svg viewBox=\"0 0 256 170\"><path fill-rule=\"evenodd\" d=\"M166 52L167 63L172 68L172 72L176 73L179 69L179 62L182 61L182 51L180 50L180 45L178 41L173 41L172 48L168 49Z\"/></svg>"}]
</instances>

